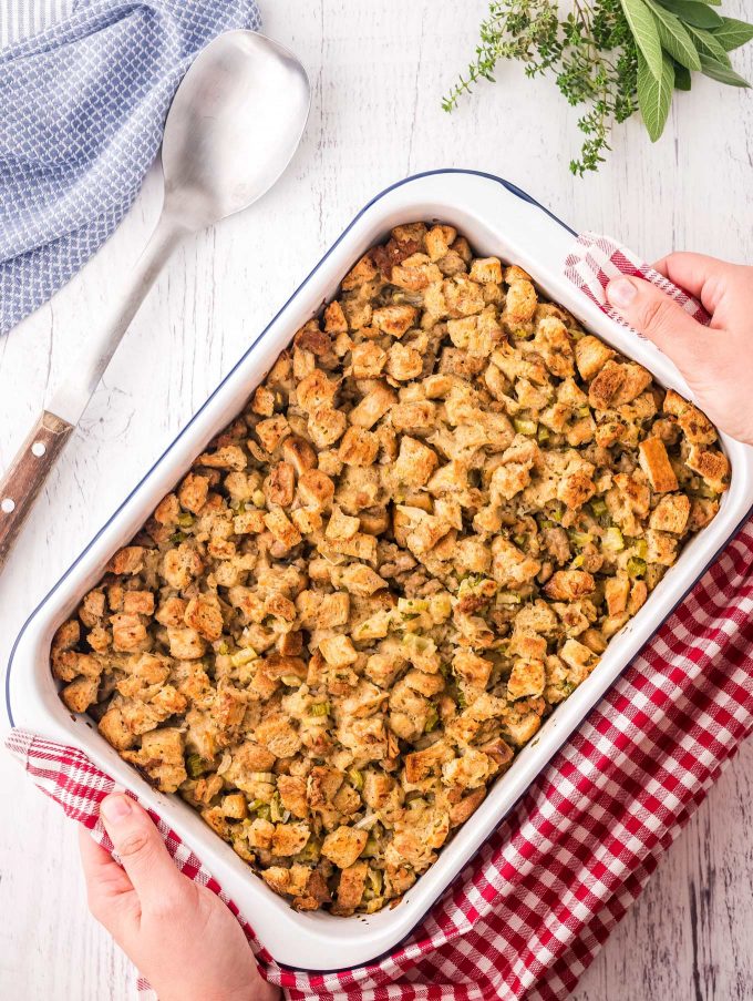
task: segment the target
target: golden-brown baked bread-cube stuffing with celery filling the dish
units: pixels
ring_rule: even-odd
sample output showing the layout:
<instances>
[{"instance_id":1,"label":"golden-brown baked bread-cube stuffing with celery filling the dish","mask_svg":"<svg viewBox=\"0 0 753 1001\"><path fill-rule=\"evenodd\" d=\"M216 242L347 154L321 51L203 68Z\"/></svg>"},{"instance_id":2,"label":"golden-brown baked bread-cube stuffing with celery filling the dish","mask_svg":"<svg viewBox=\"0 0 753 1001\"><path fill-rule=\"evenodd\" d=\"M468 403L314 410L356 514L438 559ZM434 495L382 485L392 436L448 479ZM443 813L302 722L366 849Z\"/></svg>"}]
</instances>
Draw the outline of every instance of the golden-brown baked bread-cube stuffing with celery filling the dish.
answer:
<instances>
[{"instance_id":1,"label":"golden-brown baked bread-cube stuffing with celery filling the dish","mask_svg":"<svg viewBox=\"0 0 753 1001\"><path fill-rule=\"evenodd\" d=\"M729 466L452 226L398 226L52 645L61 696L299 910L396 901L590 674Z\"/></svg>"}]
</instances>

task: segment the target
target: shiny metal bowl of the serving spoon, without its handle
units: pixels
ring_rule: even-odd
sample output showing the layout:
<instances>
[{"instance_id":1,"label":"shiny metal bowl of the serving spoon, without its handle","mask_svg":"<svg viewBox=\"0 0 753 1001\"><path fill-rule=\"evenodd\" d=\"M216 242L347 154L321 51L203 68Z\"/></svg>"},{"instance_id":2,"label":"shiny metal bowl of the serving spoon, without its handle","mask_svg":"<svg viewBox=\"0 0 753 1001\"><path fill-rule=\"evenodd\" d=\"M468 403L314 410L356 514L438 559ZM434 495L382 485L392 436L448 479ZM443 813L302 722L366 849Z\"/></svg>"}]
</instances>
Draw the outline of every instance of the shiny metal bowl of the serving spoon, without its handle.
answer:
<instances>
[{"instance_id":1,"label":"shiny metal bowl of the serving spoon, without its handle","mask_svg":"<svg viewBox=\"0 0 753 1001\"><path fill-rule=\"evenodd\" d=\"M220 34L192 64L167 115L165 212L199 229L256 202L290 162L310 104L309 79L291 52L254 31Z\"/></svg>"}]
</instances>

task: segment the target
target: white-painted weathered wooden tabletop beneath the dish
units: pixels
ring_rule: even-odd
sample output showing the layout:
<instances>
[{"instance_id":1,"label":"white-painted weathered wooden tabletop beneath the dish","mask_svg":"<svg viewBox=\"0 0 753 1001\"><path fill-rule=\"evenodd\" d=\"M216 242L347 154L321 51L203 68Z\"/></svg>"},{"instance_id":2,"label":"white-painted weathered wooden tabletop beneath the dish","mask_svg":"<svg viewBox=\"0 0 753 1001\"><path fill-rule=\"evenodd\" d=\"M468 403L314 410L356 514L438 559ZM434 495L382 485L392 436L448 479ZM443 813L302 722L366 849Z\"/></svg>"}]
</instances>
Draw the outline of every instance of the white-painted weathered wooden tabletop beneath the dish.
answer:
<instances>
[{"instance_id":1,"label":"white-painted weathered wooden tabletop beneath the dish","mask_svg":"<svg viewBox=\"0 0 753 1001\"><path fill-rule=\"evenodd\" d=\"M453 115L443 92L473 52L484 0L262 2L266 30L313 84L302 146L246 215L186 245L140 313L0 578L0 663L22 621L360 206L437 166L502 174L577 228L649 258L693 248L753 259L753 96L706 80L651 146L637 122L597 176L567 164L575 115L550 83L502 68ZM745 0L725 0L742 17ZM747 11L750 16L750 10ZM753 76L753 47L735 62ZM156 172L96 258L0 340L0 467L13 454L138 255ZM580 1001L753 998L753 746L743 747L584 977ZM127 961L85 909L75 831L0 754L0 997L132 997Z\"/></svg>"}]
</instances>

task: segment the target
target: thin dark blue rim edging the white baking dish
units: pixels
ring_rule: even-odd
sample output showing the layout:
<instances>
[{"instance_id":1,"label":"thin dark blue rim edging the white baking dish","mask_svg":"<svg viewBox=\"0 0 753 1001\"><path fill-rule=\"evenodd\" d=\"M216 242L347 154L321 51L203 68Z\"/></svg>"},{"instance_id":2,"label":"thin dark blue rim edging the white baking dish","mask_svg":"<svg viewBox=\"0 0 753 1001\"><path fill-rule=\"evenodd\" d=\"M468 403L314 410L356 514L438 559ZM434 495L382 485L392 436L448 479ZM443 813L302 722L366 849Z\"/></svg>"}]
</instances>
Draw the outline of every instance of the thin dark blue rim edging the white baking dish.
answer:
<instances>
[{"instance_id":1,"label":"thin dark blue rim edging the white baking dish","mask_svg":"<svg viewBox=\"0 0 753 1001\"><path fill-rule=\"evenodd\" d=\"M12 667L13 667L13 658L14 658L14 656L16 656L16 651L18 650L18 645L19 645L19 643L21 642L21 639L23 637L23 635L24 635L27 629L28 629L29 625L31 624L31 622L32 622L32 620L34 619L34 616L37 615L37 613L38 613L38 612L47 604L47 602L48 602L48 601L52 597L52 595L58 591L58 589L60 588L60 585L68 579L68 576L69 576L70 573L75 569L75 566L78 566L78 564L81 562L81 560L84 558L84 555L89 552L89 550L92 548L92 545L94 545L94 543L96 542L96 540L97 540L97 539L102 535L102 533L110 527L110 524L113 522L113 520L114 520L115 518L117 518L117 515L120 514L120 512L121 512L121 511L123 510L123 508L128 503L128 501L130 501L131 498L134 496L134 493L136 493L136 491L140 490L140 488L142 487L142 484L143 484L143 483L152 476L152 473L153 473L154 470L157 468L157 466L159 466L159 463L161 463L162 460L165 458L165 456L166 456L166 454L171 451L171 449L172 449L172 448L173 448L173 447L174 447L174 446L183 438L183 436L184 436L184 435L186 433L186 431L190 428L190 426L194 423L194 421L196 420L196 418L203 412L203 410L205 409L205 407L208 406L208 404L215 398L215 396L219 392L219 390L220 390L220 389L223 388L223 386L227 382L227 380L235 374L235 371L238 369L238 367L246 360L246 358L248 357L248 355L250 354L250 351L257 346L257 344L261 340L261 338L267 334L267 331L268 331L269 328L272 326L272 324L275 324L275 323L277 321L278 317L285 311L285 309L287 309L287 307L288 307L289 304L296 298L296 296L298 295L298 293L299 293L299 292L300 292L300 290L309 283L309 280L317 274L317 272L319 270L319 268L324 264L324 262L328 259L328 257L329 257L329 256L334 252L334 249L340 245L340 243L344 239L344 237L347 236L347 234L352 229L352 227L355 225L355 223L364 215L364 213L367 213L367 212L369 211L369 208L371 208L372 205L374 205L376 202L379 202L381 198L383 198L384 195L389 194L390 192L394 191L395 188L402 187L402 186L405 185L405 184L410 184L412 181L417 181L417 180L420 180L421 177L432 177L432 176L436 176L436 175L441 175L441 174L465 174L465 175L470 175L470 176L484 177L484 178L487 180L487 181L493 181L493 182L496 183L496 184L501 184L501 185L502 185L506 191L508 191L512 195L514 195L514 196L517 197L517 198L520 198L520 201L523 201L523 202L527 202L529 205L533 205L535 208L538 208L540 212L545 213L545 215L548 215L549 218L551 218L554 222L556 222L559 226L561 226L564 229L566 229L568 233L570 233L575 238L578 237L578 233L577 233L571 226L569 226L567 223L565 223L563 219L560 219L557 215L555 215L555 214L554 214L550 210L548 210L545 205L541 205L540 202L537 202L536 198L534 198L532 195L528 194L528 192L526 192L526 191L524 191L523 188L518 187L516 184L513 184L510 181L506 181L504 177L498 177L496 174L489 174L489 173L487 173L487 172L485 172L485 171L464 170L464 168L462 168L462 167L444 167L444 168L437 168L437 170L433 170L433 171L422 171L421 173L417 173L417 174L411 174L409 177L404 177L402 181L396 181L394 184L389 185L389 187L385 187L383 191L379 192L379 194L374 195L374 197L371 198L371 200L363 206L363 208L361 208L361 211L360 211L355 216L353 216L353 218L352 218L352 219L350 221L350 223L345 226L345 228L342 231L342 233L338 236L338 238L334 241L334 243L331 244L331 246L327 249L327 252L322 255L322 257L320 257L320 259L317 262L317 264L313 266L313 268L309 272L309 274L306 276L306 278L303 278L303 280L300 283L300 285L298 285L298 287L295 289L295 292L288 297L288 299L283 303L283 305L277 310L277 313L275 314L275 316L272 317L272 319L267 324L267 326L264 328L264 330L261 330L261 333L260 333L260 334L251 341L251 344L246 348L246 350L245 350L245 351L243 353L243 355L238 358L238 360L237 360L236 364L233 366L233 368L231 368L231 369L227 372L227 375L225 375L224 378L217 384L217 386L215 387L215 389L209 394L209 396L208 396L208 397L206 398L206 400L202 404L202 406L198 408L198 410L196 410L196 412L195 412L194 415L192 415L192 417L190 417L190 418L188 419L188 421L183 426L183 428L178 431L178 433L175 436L175 438L173 438L173 440L169 442L169 445L164 449L164 451L162 452L162 454L161 454L161 456L152 463L152 466L149 467L149 469L148 469L148 470L144 473L144 476L138 480L138 482L136 483L136 486L135 486L135 487L131 490L131 492L123 499L123 501L122 501L122 502L118 504L118 507L113 511L113 513L112 513L112 514L110 515L110 518L104 522L104 524L99 529L99 531L90 539L90 541L89 541L89 542L86 543L86 545L81 550L81 552L80 552L79 555L75 558L75 560L69 565L69 568L64 571L64 573L58 579L58 581L53 584L53 586L50 589L50 591L48 591L48 593L47 593L47 594L44 595L44 597L39 602L39 604L37 605L37 607L35 607L35 609L31 612L31 614L28 616L27 621L25 621L25 622L23 623L23 625L21 626L21 630L20 630L18 636L16 637L16 640L14 640L14 642L13 642L13 646L11 647L10 656L9 656L9 658L8 658L8 670L7 670L7 672L6 672L6 686L4 686L4 687L6 687L6 711L7 711L7 713L8 713L8 719L9 719L9 722L10 722L10 725L11 725L11 726L14 726L14 725L16 725L16 724L14 724L14 719L13 719L13 711L12 711L12 707L11 707L11 694L10 694L10 680L11 680L11 672L12 672ZM678 601L677 601L675 604L672 606L672 609L669 611L669 613L667 614L667 616L666 616L666 619L662 621L662 623L660 623L660 624L657 626L657 629L653 631L653 633L651 633L651 635L647 639L647 641L646 641L646 643L643 644L643 646L646 646L646 645L650 642L650 640L653 639L653 636L657 634L657 632L659 631L659 629L661 629L661 625L663 625L663 622L666 622L667 619L669 619L669 616L673 613L673 611L674 611L680 604L682 604L682 602L685 600L685 597L688 596L688 594L692 591L692 589L695 586L695 584L700 581L700 579L701 579L701 578L703 576L703 574L706 572L706 570L709 569L709 566L711 566L711 564L716 560L716 558L718 558L719 554L722 552L722 550L724 550L724 549L729 545L729 543L735 538L735 535L740 532L741 528L743 527L743 524L745 524L745 522L747 521L747 519L749 519L749 517L750 517L750 514L751 514L752 511L753 511L753 508L751 508L751 509L745 513L745 515L742 518L742 520L741 520L741 521L737 523L737 525L732 530L732 532L730 533L730 535L724 540L723 544L720 545L719 549L713 553L713 555L709 559L709 561L705 563L705 565L700 570L698 576L694 578L694 580L692 581L692 583L689 584L688 589L687 589L687 590L683 592L683 594L678 599ZM641 647L641 648L643 648L643 647ZM625 666L627 667L628 664L626 664ZM625 670L625 668L623 668L623 670ZM588 715L590 715L590 712L589 712ZM587 715L586 717L584 717L584 722L585 722L585 719L588 718L588 715Z\"/></svg>"}]
</instances>

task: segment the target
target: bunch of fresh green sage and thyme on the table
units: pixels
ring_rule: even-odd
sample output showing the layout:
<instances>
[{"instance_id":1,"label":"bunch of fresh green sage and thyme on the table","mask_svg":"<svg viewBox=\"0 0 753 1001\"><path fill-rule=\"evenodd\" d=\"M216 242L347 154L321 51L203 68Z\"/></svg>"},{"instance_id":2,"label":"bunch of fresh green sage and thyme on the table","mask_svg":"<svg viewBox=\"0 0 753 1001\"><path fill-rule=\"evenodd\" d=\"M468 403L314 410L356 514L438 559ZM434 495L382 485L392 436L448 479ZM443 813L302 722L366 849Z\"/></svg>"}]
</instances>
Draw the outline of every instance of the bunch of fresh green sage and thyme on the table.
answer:
<instances>
[{"instance_id":1,"label":"bunch of fresh green sage and thyme on the table","mask_svg":"<svg viewBox=\"0 0 753 1001\"><path fill-rule=\"evenodd\" d=\"M582 110L574 174L596 171L611 149L616 124L640 110L656 142L674 90L689 91L700 72L750 86L729 52L753 39L753 24L725 18L721 0L573 0L560 17L556 0L492 0L475 59L444 98L453 111L479 80L495 82L497 64L524 63L529 78L551 74L569 104Z\"/></svg>"}]
</instances>

